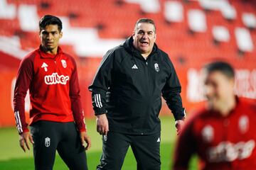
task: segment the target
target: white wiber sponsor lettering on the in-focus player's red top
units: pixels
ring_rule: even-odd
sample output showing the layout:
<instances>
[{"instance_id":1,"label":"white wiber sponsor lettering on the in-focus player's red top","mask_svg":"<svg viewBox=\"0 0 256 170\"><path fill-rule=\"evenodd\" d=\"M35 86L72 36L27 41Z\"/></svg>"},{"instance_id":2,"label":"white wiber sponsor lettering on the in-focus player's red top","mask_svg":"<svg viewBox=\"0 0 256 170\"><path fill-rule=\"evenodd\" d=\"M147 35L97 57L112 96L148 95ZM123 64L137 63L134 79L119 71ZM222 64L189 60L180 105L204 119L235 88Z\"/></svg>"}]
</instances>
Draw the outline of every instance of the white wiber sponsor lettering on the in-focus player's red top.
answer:
<instances>
[{"instance_id":1,"label":"white wiber sponsor lettering on the in-focus player's red top","mask_svg":"<svg viewBox=\"0 0 256 170\"><path fill-rule=\"evenodd\" d=\"M51 75L46 75L44 77L44 81L46 84L51 85L51 84L67 84L67 81L69 80L68 76L64 75L58 75L58 73L53 73Z\"/></svg>"}]
</instances>

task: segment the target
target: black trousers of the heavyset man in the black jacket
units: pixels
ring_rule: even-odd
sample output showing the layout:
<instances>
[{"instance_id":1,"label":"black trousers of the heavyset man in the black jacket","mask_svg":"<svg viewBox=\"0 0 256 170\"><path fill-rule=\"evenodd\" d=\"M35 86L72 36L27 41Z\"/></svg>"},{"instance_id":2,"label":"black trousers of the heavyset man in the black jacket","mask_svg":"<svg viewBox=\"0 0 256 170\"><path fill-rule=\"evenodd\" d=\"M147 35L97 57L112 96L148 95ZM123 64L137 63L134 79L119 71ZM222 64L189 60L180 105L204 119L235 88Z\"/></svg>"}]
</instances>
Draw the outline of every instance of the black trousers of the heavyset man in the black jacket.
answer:
<instances>
[{"instance_id":1,"label":"black trousers of the heavyset man in the black jacket","mask_svg":"<svg viewBox=\"0 0 256 170\"><path fill-rule=\"evenodd\" d=\"M154 135L126 135L118 132L108 132L102 136L102 157L97 170L120 170L129 146L137 160L139 170L159 170L160 132Z\"/></svg>"}]
</instances>

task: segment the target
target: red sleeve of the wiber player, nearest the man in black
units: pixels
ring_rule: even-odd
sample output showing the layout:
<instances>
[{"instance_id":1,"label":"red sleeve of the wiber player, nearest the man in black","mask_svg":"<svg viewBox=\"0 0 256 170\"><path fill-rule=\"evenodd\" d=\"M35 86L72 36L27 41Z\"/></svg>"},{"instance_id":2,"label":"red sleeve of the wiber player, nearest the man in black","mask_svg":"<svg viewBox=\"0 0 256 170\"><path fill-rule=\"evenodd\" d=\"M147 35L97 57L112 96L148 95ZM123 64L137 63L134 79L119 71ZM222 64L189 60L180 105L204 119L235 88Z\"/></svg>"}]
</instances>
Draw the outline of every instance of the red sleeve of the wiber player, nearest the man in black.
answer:
<instances>
[{"instance_id":1,"label":"red sleeve of the wiber player, nearest the man in black","mask_svg":"<svg viewBox=\"0 0 256 170\"><path fill-rule=\"evenodd\" d=\"M78 69L75 64L75 60L72 58L74 65L73 74L70 78L70 100L71 109L73 111L73 116L75 119L75 124L80 132L86 131L85 128L85 115L82 111L82 103L80 101L80 87L78 83Z\"/></svg>"}]
</instances>

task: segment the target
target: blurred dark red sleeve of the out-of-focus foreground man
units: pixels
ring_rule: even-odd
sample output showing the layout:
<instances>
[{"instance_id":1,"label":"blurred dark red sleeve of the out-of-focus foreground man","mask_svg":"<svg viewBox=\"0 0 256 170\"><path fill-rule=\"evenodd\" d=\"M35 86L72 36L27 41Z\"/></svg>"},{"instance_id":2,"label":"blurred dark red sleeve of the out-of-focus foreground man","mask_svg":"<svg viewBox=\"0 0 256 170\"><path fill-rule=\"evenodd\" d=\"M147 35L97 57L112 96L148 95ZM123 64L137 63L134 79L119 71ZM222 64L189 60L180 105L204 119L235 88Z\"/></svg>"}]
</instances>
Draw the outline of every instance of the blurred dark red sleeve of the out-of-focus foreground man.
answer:
<instances>
[{"instance_id":1,"label":"blurred dark red sleeve of the out-of-focus foreground man","mask_svg":"<svg viewBox=\"0 0 256 170\"><path fill-rule=\"evenodd\" d=\"M178 136L174 154L174 170L188 169L192 154L196 151L196 140L193 137L193 121L188 120Z\"/></svg>"}]
</instances>

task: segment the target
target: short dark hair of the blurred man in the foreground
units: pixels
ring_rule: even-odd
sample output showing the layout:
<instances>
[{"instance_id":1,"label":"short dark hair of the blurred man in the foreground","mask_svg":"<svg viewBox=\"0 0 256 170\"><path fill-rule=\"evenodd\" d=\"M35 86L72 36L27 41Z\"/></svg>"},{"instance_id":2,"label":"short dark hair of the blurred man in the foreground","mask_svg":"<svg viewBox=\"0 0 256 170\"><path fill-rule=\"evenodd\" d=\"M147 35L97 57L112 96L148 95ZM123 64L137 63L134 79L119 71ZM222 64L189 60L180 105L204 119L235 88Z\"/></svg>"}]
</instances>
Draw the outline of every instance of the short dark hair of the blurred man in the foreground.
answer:
<instances>
[{"instance_id":1,"label":"short dark hair of the blurred man in the foreground","mask_svg":"<svg viewBox=\"0 0 256 170\"><path fill-rule=\"evenodd\" d=\"M218 71L223 73L225 77L228 77L230 79L235 78L235 71L233 67L228 64L228 62L211 62L210 64L206 64L206 66L203 68L206 69L206 72L208 72L208 74Z\"/></svg>"}]
</instances>

